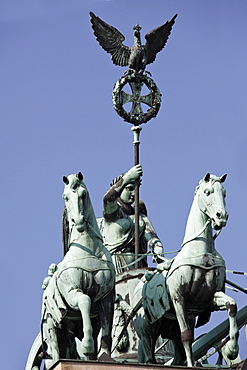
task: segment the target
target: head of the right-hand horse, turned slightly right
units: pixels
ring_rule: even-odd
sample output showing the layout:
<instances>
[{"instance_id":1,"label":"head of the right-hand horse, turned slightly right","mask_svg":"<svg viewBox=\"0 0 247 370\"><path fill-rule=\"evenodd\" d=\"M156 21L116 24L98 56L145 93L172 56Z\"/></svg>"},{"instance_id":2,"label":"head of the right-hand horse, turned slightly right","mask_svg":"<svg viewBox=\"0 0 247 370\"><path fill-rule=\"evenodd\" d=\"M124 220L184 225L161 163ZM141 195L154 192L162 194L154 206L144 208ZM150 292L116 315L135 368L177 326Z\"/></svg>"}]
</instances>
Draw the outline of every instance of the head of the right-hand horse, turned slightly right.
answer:
<instances>
[{"instance_id":1,"label":"head of the right-hand horse, turned slightly right","mask_svg":"<svg viewBox=\"0 0 247 370\"><path fill-rule=\"evenodd\" d=\"M211 220L215 230L226 226L228 219L225 209L226 190L222 186L226 176L217 177L207 173L196 189L199 208Z\"/></svg>"}]
</instances>

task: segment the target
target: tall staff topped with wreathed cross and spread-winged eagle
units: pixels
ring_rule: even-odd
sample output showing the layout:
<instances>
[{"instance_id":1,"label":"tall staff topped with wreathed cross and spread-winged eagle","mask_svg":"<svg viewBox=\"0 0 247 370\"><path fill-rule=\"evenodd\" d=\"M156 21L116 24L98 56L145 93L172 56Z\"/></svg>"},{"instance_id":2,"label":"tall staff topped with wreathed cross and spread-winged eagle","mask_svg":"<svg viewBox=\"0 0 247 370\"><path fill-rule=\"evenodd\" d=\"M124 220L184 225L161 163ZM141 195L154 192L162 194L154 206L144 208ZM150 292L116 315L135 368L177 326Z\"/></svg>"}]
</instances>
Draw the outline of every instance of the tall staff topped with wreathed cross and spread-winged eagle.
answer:
<instances>
[{"instance_id":1,"label":"tall staff topped with wreathed cross and spread-winged eagle","mask_svg":"<svg viewBox=\"0 0 247 370\"><path fill-rule=\"evenodd\" d=\"M112 62L119 66L128 66L127 74L121 77L115 84L112 94L114 109L124 121L134 124L132 127L134 133L134 164L139 164L139 135L142 123L146 123L155 117L159 111L161 103L161 94L155 82L147 77L145 68L147 64L153 63L156 54L161 51L171 33L172 26L175 23L177 14L170 21L148 32L145 35L146 43L141 44L141 27L137 23L134 27L134 45L128 47L123 44L124 35L115 27L110 26L102 19L90 12L90 21L97 41L102 48L110 53ZM123 88L126 84L130 85L132 94L127 94ZM146 85L150 93L141 96L143 85ZM123 105L132 103L130 112L127 112ZM142 104L150 108L146 113L142 110ZM139 180L135 186L135 254L136 259L140 252L139 248ZM136 268L138 262L136 262Z\"/></svg>"}]
</instances>

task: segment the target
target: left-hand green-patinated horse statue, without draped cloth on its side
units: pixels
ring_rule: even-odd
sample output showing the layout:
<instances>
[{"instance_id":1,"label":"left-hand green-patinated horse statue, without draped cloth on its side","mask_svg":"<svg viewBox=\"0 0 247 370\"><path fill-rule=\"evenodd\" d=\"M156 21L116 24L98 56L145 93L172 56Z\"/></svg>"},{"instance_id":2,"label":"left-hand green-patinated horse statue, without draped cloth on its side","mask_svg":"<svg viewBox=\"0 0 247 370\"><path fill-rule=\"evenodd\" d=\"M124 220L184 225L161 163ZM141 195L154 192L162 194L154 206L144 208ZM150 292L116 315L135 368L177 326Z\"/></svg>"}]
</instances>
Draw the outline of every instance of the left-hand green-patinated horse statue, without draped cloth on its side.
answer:
<instances>
[{"instance_id":1,"label":"left-hand green-patinated horse statue, without draped cloth on its side","mask_svg":"<svg viewBox=\"0 0 247 370\"><path fill-rule=\"evenodd\" d=\"M26 370L38 369L42 357L46 369L59 358L96 359L99 333L101 349L111 353L115 268L82 180L80 172L63 177L68 251L45 280L42 331L33 345L42 338L43 353L31 350Z\"/></svg>"}]
</instances>

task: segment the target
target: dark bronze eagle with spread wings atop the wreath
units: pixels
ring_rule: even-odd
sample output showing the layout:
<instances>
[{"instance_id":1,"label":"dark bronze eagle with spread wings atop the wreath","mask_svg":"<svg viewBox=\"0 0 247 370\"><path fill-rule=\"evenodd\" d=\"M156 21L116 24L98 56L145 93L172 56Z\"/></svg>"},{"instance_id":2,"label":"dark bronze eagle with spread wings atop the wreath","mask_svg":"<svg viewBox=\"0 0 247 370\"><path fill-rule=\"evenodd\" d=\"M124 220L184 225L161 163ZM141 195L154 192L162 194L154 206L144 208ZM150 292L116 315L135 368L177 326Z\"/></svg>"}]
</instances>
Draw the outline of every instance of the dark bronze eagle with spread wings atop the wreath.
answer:
<instances>
[{"instance_id":1,"label":"dark bronze eagle with spread wings atop the wreath","mask_svg":"<svg viewBox=\"0 0 247 370\"><path fill-rule=\"evenodd\" d=\"M93 12L89 14L96 40L107 53L111 54L112 62L118 66L128 66L136 73L143 72L147 64L154 62L156 54L165 46L177 17L175 14L170 21L148 32L145 35L145 45L141 44L141 27L137 23L133 27L134 45L128 47L123 44L125 37L121 32L105 23Z\"/></svg>"}]
</instances>

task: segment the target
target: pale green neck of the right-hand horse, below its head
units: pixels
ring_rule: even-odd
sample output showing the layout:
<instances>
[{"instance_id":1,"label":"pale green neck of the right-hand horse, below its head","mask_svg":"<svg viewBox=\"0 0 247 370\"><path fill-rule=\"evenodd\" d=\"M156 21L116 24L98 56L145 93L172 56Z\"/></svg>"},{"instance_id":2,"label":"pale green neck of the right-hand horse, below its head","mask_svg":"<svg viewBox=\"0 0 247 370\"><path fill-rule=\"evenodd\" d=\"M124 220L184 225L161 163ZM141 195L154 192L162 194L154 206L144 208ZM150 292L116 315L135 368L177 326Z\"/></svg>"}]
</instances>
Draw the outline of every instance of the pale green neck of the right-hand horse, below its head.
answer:
<instances>
[{"instance_id":1,"label":"pale green neck of the right-hand horse, below its head","mask_svg":"<svg viewBox=\"0 0 247 370\"><path fill-rule=\"evenodd\" d=\"M209 218L200 210L197 197L198 195L196 194L188 216L183 243L186 243L186 248L193 248L196 243L198 253L213 252L214 239L212 227L210 222L207 224Z\"/></svg>"}]
</instances>

